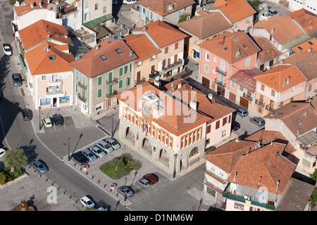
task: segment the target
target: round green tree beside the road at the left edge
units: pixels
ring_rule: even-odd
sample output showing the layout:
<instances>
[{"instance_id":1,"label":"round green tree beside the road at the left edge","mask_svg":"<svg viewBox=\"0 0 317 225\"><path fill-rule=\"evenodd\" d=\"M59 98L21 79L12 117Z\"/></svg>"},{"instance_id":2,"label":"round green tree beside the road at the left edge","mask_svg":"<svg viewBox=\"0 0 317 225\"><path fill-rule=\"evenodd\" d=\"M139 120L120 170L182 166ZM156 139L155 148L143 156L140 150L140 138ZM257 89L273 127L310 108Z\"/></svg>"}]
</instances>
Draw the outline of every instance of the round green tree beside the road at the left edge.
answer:
<instances>
[{"instance_id":1,"label":"round green tree beside the road at the left edge","mask_svg":"<svg viewBox=\"0 0 317 225\"><path fill-rule=\"evenodd\" d=\"M23 149L11 149L6 151L6 155L4 155L4 162L11 167L10 172L14 172L15 168L20 169L27 165L27 157Z\"/></svg>"}]
</instances>

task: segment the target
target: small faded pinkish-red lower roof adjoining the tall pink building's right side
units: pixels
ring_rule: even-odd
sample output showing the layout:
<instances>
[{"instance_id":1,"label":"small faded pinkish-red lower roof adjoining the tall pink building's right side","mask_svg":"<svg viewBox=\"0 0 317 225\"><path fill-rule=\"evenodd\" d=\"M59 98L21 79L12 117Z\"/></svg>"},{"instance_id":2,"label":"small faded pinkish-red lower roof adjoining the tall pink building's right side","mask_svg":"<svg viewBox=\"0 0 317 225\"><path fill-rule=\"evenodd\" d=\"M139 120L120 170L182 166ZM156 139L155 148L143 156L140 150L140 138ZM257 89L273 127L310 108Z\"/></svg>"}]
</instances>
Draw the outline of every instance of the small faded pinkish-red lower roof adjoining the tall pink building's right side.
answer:
<instances>
[{"instance_id":1,"label":"small faded pinkish-red lower roof adjoining the tall pink building's right side","mask_svg":"<svg viewBox=\"0 0 317 225\"><path fill-rule=\"evenodd\" d=\"M235 74L231 75L230 79L248 89L251 92L256 90L256 79L254 76L261 74L262 70L252 68L249 70L238 70Z\"/></svg>"}]
</instances>

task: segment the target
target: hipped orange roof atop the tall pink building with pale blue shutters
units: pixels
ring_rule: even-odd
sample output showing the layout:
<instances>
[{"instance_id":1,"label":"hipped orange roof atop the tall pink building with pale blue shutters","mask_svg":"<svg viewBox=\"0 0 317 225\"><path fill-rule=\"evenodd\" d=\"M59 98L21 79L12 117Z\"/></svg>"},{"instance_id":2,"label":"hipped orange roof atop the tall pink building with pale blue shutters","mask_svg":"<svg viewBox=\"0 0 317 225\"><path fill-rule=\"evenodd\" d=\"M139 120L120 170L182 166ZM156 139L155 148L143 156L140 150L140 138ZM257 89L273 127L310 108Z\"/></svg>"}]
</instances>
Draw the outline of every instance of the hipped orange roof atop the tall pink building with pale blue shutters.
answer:
<instances>
[{"instance_id":1,"label":"hipped orange roof atop the tall pink building with pale blue shutters","mask_svg":"<svg viewBox=\"0 0 317 225\"><path fill-rule=\"evenodd\" d=\"M199 46L229 63L236 63L261 50L244 32L225 32L202 42ZM236 55L237 51L240 51L240 56L238 57Z\"/></svg>"}]
</instances>

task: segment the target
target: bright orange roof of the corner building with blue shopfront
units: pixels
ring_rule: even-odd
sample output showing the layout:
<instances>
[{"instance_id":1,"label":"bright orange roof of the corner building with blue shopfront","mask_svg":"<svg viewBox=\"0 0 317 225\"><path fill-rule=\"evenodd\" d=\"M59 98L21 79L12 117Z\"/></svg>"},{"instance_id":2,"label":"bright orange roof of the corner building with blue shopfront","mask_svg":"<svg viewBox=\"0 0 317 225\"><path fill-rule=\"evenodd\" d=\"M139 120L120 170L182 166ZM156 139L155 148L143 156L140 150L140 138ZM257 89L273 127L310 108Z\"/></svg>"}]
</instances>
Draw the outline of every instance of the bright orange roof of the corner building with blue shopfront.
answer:
<instances>
[{"instance_id":1,"label":"bright orange roof of the corner building with blue shopfront","mask_svg":"<svg viewBox=\"0 0 317 225\"><path fill-rule=\"evenodd\" d=\"M49 51L45 47L49 46ZM68 45L58 46L50 41L45 41L34 49L25 53L27 64L29 65L32 75L46 75L56 72L71 72L70 63L73 62L73 55L63 51ZM54 56L54 60L50 59Z\"/></svg>"}]
</instances>

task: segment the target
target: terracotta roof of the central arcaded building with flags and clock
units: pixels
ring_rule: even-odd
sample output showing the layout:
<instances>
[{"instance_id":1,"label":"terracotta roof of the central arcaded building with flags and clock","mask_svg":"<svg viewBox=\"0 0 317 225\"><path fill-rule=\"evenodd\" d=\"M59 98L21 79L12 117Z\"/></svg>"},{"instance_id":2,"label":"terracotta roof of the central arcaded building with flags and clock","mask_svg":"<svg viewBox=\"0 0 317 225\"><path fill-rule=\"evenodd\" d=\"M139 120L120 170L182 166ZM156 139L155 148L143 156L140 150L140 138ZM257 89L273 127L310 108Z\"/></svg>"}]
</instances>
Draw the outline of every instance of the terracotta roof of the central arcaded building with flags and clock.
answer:
<instances>
[{"instance_id":1,"label":"terracotta roof of the central arcaded building with flags and clock","mask_svg":"<svg viewBox=\"0 0 317 225\"><path fill-rule=\"evenodd\" d=\"M181 79L175 80L175 82L173 82L174 86L180 81ZM190 92L191 90L188 82L182 82L182 87L180 89L175 89L175 91L178 91L178 94L184 94L184 91L188 91L189 97L182 98L182 102L178 100L178 98L173 98L170 83L166 86L161 86L161 89L158 89L150 82L143 82L127 91L117 94L116 98L130 108L140 111L142 110L142 105L139 105L139 97L147 93L147 91L154 91L163 100L162 105L165 107L163 108L163 115L154 118L153 121L159 124L160 127L163 127L163 129L166 129L177 136L194 129L201 124L218 120L220 117L229 115L235 111L232 108L216 103L216 101L209 101L204 94L201 94L200 91L196 89L192 90L194 92ZM173 93L175 94L175 92ZM199 105L197 111L187 108L192 93L197 94L196 98ZM172 104L173 107L168 107L170 104ZM185 112L184 110L188 111Z\"/></svg>"}]
</instances>

